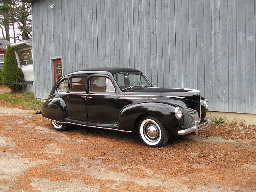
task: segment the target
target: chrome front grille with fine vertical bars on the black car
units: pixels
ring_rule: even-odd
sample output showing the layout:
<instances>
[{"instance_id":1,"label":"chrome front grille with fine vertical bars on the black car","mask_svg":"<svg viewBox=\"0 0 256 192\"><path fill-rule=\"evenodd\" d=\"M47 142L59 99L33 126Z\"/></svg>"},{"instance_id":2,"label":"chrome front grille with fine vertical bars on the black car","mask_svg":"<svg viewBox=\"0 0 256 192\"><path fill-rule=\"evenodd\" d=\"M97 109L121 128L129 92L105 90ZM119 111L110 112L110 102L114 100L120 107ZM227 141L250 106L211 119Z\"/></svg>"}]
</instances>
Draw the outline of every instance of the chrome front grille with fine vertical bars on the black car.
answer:
<instances>
[{"instance_id":1,"label":"chrome front grille with fine vertical bars on the black car","mask_svg":"<svg viewBox=\"0 0 256 192\"><path fill-rule=\"evenodd\" d=\"M195 121L200 124L200 116L196 110L191 108L180 108L184 116L184 129L194 127Z\"/></svg>"}]
</instances>

